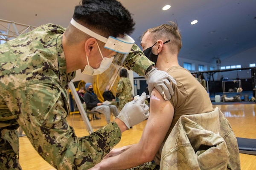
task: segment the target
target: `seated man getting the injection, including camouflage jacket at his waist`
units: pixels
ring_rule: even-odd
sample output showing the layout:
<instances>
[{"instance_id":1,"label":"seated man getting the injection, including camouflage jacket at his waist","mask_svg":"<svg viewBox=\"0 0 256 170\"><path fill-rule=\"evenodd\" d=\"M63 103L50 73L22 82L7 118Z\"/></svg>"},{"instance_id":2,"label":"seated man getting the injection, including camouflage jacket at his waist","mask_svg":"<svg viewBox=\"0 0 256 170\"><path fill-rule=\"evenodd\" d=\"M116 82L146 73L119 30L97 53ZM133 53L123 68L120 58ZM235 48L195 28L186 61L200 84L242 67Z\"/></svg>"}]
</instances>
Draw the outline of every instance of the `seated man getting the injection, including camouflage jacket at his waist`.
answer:
<instances>
[{"instance_id":1,"label":"seated man getting the injection, including camouflage jacket at his waist","mask_svg":"<svg viewBox=\"0 0 256 170\"><path fill-rule=\"evenodd\" d=\"M159 70L166 71L176 80L177 85L172 84L174 95L165 101L154 89L150 93L154 96L150 99L150 115L140 141L111 150L89 170L158 170L160 164L162 168L166 165L165 170L201 169L199 165L204 167L202 169L240 169L238 145L230 124L218 108L213 108L204 87L178 64L182 42L177 24L169 22L149 28L142 36L141 46L145 56L154 61ZM189 122L188 118L179 123L179 118L184 116L196 117L206 126L215 126L215 133ZM203 117L207 121L203 121ZM171 149L162 150L164 146ZM165 154L161 156L163 152ZM163 163L162 158L166 160L166 157L168 161Z\"/></svg>"}]
</instances>

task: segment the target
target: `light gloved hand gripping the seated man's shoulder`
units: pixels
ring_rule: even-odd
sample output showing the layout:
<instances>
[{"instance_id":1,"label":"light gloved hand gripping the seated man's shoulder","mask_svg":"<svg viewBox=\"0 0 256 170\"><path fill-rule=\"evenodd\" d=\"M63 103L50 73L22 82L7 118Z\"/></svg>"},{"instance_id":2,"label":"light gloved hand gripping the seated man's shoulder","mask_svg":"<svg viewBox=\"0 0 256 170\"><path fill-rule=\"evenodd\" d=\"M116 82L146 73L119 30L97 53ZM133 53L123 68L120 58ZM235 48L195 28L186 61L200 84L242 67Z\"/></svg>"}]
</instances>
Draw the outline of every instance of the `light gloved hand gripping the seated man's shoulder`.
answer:
<instances>
[{"instance_id":1,"label":"light gloved hand gripping the seated man's shoulder","mask_svg":"<svg viewBox=\"0 0 256 170\"><path fill-rule=\"evenodd\" d=\"M148 82L148 91L151 94L154 88L162 95L165 100L170 100L174 94L171 83L177 85L175 79L165 71L152 68L145 74L145 79Z\"/></svg>"}]
</instances>

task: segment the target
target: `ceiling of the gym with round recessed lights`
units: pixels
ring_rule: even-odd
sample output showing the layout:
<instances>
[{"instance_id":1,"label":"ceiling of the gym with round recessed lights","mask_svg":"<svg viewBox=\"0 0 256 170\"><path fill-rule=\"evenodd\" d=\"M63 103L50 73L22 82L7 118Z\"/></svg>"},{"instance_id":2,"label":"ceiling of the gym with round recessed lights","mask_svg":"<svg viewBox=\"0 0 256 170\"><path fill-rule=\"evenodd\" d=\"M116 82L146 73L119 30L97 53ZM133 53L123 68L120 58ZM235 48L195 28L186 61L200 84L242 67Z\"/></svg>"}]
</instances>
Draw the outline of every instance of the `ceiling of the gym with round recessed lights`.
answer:
<instances>
[{"instance_id":1,"label":"ceiling of the gym with round recessed lights","mask_svg":"<svg viewBox=\"0 0 256 170\"><path fill-rule=\"evenodd\" d=\"M67 27L80 0L0 0L0 19ZM226 59L256 47L256 0L120 0L134 16L137 45L148 28L176 20L182 34L180 57L202 62ZM162 11L166 4L171 5ZM198 23L191 25L193 20ZM246 59L246 56L244 56Z\"/></svg>"}]
</instances>

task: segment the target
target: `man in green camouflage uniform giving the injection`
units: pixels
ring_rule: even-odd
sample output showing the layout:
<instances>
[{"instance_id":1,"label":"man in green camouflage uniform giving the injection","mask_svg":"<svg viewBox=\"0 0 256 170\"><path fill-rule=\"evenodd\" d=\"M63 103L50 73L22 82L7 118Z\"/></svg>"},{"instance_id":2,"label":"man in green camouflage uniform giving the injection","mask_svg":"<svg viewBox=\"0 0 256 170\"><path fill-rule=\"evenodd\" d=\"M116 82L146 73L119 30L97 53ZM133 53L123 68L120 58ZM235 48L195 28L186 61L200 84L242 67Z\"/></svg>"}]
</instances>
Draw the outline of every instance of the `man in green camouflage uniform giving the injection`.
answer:
<instances>
[{"instance_id":1,"label":"man in green camouflage uniform giving the injection","mask_svg":"<svg viewBox=\"0 0 256 170\"><path fill-rule=\"evenodd\" d=\"M104 38L131 34L134 30L131 14L115 0L82 0L75 8L73 20ZM78 170L101 161L120 141L121 132L147 118L143 94L139 102L129 102L114 122L89 136L78 138L69 126L65 119L69 111L68 83L76 70L94 71L106 58L103 56L113 52L90 34L73 24L67 29L46 24L0 45L1 170L21 169L19 126L53 167ZM134 45L123 65L145 75L152 88L163 83L164 89L159 90L170 98L172 88L165 80L172 78L152 68L154 63L142 54ZM134 110L138 110L136 114Z\"/></svg>"}]
</instances>

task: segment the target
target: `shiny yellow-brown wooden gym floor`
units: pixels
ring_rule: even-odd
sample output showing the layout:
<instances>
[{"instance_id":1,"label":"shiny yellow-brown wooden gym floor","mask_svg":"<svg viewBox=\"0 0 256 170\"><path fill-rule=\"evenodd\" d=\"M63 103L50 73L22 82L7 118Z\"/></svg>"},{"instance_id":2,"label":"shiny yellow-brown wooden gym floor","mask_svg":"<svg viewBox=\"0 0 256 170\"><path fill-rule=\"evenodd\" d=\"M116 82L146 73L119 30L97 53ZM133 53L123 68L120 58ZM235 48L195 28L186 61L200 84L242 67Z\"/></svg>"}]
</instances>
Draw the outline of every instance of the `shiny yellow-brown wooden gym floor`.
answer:
<instances>
[{"instance_id":1,"label":"shiny yellow-brown wooden gym floor","mask_svg":"<svg viewBox=\"0 0 256 170\"><path fill-rule=\"evenodd\" d=\"M214 107L221 109L237 137L256 139L256 104L214 105ZM91 122L92 126L99 125L99 123L102 126L106 125L105 117L103 115L101 117L101 120ZM114 117L111 117L111 120L113 119ZM69 115L67 120L74 127L77 136L89 134L79 114ZM141 122L122 133L122 139L116 147L137 143L140 140L145 123L146 121ZM240 153L240 160L241 170L256 170L256 156ZM36 153L26 136L20 137L20 164L23 170L55 170Z\"/></svg>"}]
</instances>

